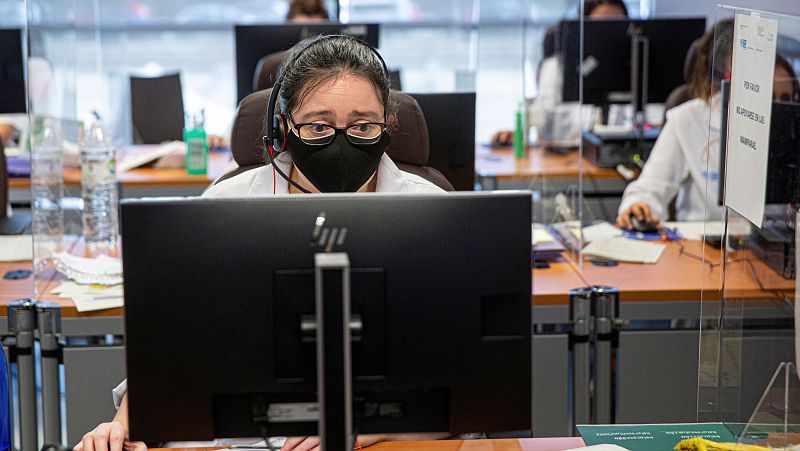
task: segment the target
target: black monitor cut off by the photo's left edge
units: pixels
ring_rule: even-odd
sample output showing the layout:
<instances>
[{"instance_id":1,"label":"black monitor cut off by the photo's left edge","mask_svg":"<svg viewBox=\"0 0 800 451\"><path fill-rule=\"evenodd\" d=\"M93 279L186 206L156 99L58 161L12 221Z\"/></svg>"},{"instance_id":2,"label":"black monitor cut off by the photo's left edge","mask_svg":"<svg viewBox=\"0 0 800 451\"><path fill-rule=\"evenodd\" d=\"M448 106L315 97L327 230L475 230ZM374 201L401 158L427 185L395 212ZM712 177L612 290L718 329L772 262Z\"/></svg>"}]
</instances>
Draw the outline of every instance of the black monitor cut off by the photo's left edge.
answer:
<instances>
[{"instance_id":1,"label":"black monitor cut off by the photo's left edge","mask_svg":"<svg viewBox=\"0 0 800 451\"><path fill-rule=\"evenodd\" d=\"M26 111L22 30L0 29L0 113Z\"/></svg>"}]
</instances>

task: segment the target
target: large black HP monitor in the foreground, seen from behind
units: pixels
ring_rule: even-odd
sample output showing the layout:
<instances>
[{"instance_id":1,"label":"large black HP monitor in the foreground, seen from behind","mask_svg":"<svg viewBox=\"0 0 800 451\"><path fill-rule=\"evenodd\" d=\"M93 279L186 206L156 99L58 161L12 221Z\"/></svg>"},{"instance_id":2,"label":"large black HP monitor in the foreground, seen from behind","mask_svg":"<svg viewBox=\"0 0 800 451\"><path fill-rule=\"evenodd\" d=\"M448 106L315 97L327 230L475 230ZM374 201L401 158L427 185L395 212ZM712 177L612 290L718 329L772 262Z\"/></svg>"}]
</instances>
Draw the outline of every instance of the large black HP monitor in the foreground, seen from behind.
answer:
<instances>
[{"instance_id":1,"label":"large black HP monitor in the foreground, seen from behind","mask_svg":"<svg viewBox=\"0 0 800 451\"><path fill-rule=\"evenodd\" d=\"M530 429L530 192L121 209L131 438L316 434L326 245L350 259L358 433Z\"/></svg>"}]
</instances>

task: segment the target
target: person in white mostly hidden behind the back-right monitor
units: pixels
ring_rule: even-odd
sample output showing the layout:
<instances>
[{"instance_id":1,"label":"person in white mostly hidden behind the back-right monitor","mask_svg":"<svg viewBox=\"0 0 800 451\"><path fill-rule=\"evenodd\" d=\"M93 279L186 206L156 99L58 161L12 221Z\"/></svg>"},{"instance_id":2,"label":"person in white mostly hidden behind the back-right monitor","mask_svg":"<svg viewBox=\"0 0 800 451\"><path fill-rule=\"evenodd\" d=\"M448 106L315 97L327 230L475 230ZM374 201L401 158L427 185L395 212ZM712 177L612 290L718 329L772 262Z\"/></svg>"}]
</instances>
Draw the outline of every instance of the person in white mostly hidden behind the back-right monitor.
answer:
<instances>
[{"instance_id":1,"label":"person in white mostly hidden behind the back-right monitor","mask_svg":"<svg viewBox=\"0 0 800 451\"><path fill-rule=\"evenodd\" d=\"M584 0L583 16L589 19L626 18L628 17L628 8L622 0ZM530 107L532 113L540 111L542 114L532 114L532 116L542 116L545 112L553 111L561 103L563 76L564 70L557 53L542 60L537 77L539 94ZM491 144L493 146L510 146L513 141L514 132L502 130L492 136Z\"/></svg>"}]
</instances>

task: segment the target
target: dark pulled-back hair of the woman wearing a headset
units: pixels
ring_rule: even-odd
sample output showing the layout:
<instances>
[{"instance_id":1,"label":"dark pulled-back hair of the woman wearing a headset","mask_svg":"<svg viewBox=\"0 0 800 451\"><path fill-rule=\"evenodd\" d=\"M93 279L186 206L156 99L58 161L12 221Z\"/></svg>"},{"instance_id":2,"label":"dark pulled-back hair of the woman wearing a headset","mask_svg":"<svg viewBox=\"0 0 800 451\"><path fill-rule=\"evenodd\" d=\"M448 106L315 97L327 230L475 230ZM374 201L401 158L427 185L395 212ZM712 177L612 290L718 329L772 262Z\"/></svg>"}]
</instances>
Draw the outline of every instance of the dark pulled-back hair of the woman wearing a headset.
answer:
<instances>
[{"instance_id":1,"label":"dark pulled-back hair of the woman wearing a headset","mask_svg":"<svg viewBox=\"0 0 800 451\"><path fill-rule=\"evenodd\" d=\"M354 37L318 36L305 40L295 46L281 72L283 82L278 103L282 113L297 108L315 87L343 75L372 83L385 115L393 113L389 104L389 77L383 63L369 45Z\"/></svg>"}]
</instances>

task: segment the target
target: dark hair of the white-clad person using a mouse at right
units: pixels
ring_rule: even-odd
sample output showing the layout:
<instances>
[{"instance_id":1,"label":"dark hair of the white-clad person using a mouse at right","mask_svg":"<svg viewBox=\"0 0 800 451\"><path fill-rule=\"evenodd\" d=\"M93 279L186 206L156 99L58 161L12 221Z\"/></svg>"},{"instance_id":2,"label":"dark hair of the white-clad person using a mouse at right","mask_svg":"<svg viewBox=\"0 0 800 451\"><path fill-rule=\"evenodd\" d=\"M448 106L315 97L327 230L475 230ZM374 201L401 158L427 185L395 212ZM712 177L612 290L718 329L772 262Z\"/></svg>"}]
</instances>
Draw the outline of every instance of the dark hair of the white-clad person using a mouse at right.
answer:
<instances>
[{"instance_id":1,"label":"dark hair of the white-clad person using a mouse at right","mask_svg":"<svg viewBox=\"0 0 800 451\"><path fill-rule=\"evenodd\" d=\"M732 41L732 19L720 20L695 41L690 51L697 52L697 57L688 80L692 97L708 100L712 83L719 89L719 83L725 77L728 57L733 51Z\"/></svg>"}]
</instances>

